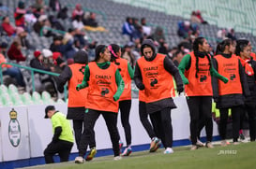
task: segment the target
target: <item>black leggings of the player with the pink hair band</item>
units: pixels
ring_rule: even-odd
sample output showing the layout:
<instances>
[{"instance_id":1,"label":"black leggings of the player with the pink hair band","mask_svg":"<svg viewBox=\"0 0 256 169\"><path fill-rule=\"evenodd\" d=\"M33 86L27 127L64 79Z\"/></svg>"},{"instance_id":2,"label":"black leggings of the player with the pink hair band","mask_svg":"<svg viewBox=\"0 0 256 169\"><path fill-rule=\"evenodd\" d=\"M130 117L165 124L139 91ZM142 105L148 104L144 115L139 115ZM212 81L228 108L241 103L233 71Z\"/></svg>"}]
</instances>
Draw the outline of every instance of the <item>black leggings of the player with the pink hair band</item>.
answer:
<instances>
[{"instance_id":1,"label":"black leggings of the player with the pink hair band","mask_svg":"<svg viewBox=\"0 0 256 169\"><path fill-rule=\"evenodd\" d=\"M131 106L131 100L123 100L119 102L119 109L121 112L121 122L126 134L127 147L130 146L131 144L130 125L128 122L130 106Z\"/></svg>"}]
</instances>

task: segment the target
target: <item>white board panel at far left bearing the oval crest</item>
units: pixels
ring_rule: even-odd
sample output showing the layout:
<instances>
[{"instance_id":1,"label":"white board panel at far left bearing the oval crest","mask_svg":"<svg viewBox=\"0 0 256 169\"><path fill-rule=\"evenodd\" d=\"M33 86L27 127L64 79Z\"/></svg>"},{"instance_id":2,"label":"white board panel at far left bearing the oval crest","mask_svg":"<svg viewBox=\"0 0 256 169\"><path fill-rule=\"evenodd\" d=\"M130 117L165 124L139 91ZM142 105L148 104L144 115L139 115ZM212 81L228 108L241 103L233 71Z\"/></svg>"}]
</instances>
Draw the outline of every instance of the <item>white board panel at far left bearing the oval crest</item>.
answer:
<instances>
[{"instance_id":1,"label":"white board panel at far left bearing the oval crest","mask_svg":"<svg viewBox=\"0 0 256 169\"><path fill-rule=\"evenodd\" d=\"M3 161L30 158L27 107L1 107L0 112Z\"/></svg>"}]
</instances>

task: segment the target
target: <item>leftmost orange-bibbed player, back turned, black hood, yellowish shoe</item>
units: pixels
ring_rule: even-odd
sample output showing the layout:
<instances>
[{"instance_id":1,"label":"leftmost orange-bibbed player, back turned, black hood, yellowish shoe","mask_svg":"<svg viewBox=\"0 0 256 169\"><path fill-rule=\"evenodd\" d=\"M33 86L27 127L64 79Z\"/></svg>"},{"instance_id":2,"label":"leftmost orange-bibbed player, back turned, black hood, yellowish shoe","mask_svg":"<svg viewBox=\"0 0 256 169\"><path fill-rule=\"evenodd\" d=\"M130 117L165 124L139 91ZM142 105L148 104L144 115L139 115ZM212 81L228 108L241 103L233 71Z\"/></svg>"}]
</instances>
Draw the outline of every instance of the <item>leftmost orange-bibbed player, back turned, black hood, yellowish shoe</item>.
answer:
<instances>
[{"instance_id":1,"label":"leftmost orange-bibbed player, back turned, black hood, yellowish shoe","mask_svg":"<svg viewBox=\"0 0 256 169\"><path fill-rule=\"evenodd\" d=\"M87 52L84 50L77 51L74 55L74 63L66 66L56 80L59 92L64 91L64 85L68 82L67 119L73 121L77 147L79 146L81 135L83 134L83 119L87 99L87 89L76 91L76 86L83 81L83 71L86 64L88 64ZM92 160L97 152L94 133L91 138L89 143L91 151L85 158L86 161Z\"/></svg>"}]
</instances>

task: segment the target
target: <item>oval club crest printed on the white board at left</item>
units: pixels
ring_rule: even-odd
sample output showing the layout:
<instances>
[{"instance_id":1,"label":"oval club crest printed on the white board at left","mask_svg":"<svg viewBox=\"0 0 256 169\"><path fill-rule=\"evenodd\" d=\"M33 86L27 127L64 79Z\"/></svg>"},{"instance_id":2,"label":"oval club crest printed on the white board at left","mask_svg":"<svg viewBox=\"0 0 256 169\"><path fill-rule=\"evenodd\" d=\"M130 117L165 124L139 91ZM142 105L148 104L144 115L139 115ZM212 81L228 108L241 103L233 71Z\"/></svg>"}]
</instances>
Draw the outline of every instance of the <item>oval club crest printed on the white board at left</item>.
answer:
<instances>
[{"instance_id":1,"label":"oval club crest printed on the white board at left","mask_svg":"<svg viewBox=\"0 0 256 169\"><path fill-rule=\"evenodd\" d=\"M21 142L21 127L17 120L17 112L14 108L9 112L8 138L13 147L18 147Z\"/></svg>"}]
</instances>

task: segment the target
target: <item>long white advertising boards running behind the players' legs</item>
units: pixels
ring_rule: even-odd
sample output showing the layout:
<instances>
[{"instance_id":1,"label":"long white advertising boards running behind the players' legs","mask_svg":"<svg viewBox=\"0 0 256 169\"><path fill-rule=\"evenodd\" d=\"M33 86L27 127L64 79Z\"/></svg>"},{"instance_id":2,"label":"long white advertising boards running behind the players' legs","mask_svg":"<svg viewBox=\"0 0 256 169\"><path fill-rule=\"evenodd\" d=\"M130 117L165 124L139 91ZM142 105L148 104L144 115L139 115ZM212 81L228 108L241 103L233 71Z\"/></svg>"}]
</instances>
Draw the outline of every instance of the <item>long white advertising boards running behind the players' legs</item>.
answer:
<instances>
[{"instance_id":1,"label":"long white advertising boards running behind the players' legs","mask_svg":"<svg viewBox=\"0 0 256 169\"><path fill-rule=\"evenodd\" d=\"M185 97L174 98L178 108L172 110L173 141L188 139L189 113ZM33 157L42 157L43 151L52 141L53 128L49 119L44 119L47 105L16 106L0 108L0 152L1 161L13 161ZM57 110L67 114L67 104L55 104ZM132 99L129 122L131 126L132 146L149 144L150 138L146 134L139 117L139 100ZM72 125L72 120L70 120ZM121 140L126 146L126 139L118 114L118 130ZM217 125L214 122L213 135L218 135ZM112 148L109 132L105 120L99 117L96 126L96 144L98 149ZM205 135L203 130L202 136ZM74 143L71 152L77 152Z\"/></svg>"}]
</instances>

